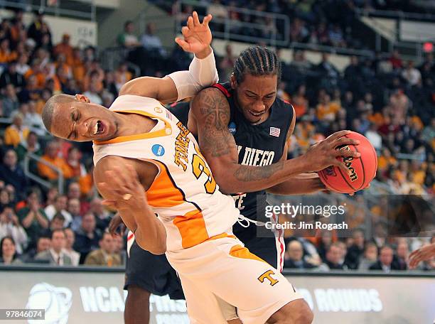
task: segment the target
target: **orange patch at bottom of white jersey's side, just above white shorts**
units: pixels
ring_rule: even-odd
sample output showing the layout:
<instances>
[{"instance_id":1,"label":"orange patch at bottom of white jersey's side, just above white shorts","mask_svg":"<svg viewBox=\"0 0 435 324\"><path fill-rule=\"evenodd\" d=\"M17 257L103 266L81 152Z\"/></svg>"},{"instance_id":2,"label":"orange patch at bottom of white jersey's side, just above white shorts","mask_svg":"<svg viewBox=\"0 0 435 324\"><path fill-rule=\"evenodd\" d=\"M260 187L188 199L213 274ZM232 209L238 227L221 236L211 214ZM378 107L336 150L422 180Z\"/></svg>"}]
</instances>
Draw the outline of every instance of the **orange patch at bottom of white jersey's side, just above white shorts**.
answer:
<instances>
[{"instance_id":1,"label":"orange patch at bottom of white jersey's side, just above white shorts","mask_svg":"<svg viewBox=\"0 0 435 324\"><path fill-rule=\"evenodd\" d=\"M184 249L194 247L210 238L205 228L203 213L198 209L186 212L183 216L176 216L172 222L180 232L181 246Z\"/></svg>"}]
</instances>

